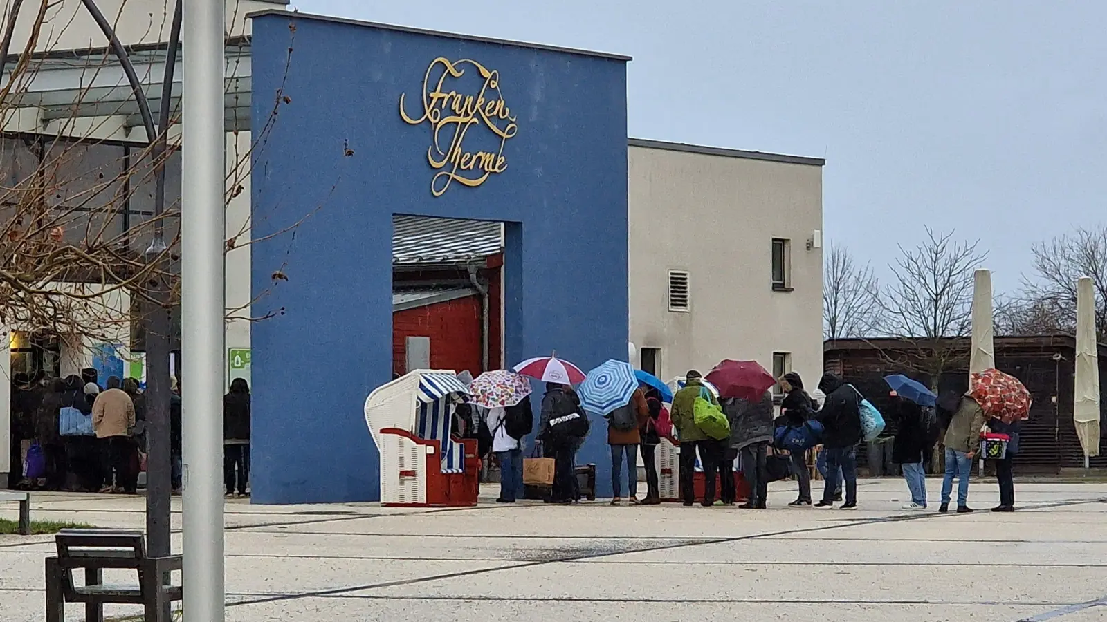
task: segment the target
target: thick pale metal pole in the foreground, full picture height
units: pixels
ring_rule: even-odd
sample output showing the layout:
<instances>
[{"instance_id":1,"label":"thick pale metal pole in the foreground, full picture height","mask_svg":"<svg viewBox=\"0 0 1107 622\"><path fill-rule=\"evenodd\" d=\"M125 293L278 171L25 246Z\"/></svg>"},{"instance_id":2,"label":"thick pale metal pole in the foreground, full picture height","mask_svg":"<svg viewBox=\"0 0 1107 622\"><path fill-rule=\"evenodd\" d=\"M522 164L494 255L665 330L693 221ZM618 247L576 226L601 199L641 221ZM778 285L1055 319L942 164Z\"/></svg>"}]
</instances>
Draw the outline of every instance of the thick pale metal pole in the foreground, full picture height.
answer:
<instances>
[{"instance_id":1,"label":"thick pale metal pole in the foreground, full picture height","mask_svg":"<svg viewBox=\"0 0 1107 622\"><path fill-rule=\"evenodd\" d=\"M187 622L224 622L224 0L184 4L182 346Z\"/></svg>"}]
</instances>

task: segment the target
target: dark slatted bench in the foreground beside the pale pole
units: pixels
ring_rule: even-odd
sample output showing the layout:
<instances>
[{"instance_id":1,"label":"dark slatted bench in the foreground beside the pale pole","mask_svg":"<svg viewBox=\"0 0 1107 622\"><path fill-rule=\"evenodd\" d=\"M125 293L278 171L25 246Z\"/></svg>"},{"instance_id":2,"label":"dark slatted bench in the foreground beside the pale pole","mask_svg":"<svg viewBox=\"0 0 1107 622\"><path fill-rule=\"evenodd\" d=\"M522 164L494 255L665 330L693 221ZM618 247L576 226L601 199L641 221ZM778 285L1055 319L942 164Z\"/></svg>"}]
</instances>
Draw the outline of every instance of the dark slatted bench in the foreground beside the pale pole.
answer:
<instances>
[{"instance_id":1,"label":"dark slatted bench in the foreground beside the pale pole","mask_svg":"<svg viewBox=\"0 0 1107 622\"><path fill-rule=\"evenodd\" d=\"M86 622L104 622L104 604L141 604L146 622L169 622L169 604L182 598L180 585L168 583L180 570L180 556L146 557L142 531L63 529L56 536L58 557L46 558L46 622L65 620L66 602L85 603ZM105 568L135 570L137 585L106 585ZM84 569L84 585L73 571Z\"/></svg>"}]
</instances>

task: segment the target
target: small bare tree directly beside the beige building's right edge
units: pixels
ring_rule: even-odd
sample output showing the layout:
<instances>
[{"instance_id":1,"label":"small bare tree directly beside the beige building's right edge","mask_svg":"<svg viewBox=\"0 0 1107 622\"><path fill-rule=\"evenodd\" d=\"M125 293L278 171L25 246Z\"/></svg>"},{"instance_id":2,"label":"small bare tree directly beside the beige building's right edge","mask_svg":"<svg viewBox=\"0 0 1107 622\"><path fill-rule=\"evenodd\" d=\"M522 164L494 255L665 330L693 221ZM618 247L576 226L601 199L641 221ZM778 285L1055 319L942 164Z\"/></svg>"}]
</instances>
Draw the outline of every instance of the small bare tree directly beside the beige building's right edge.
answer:
<instances>
[{"instance_id":1,"label":"small bare tree directly beside the beige building's right edge","mask_svg":"<svg viewBox=\"0 0 1107 622\"><path fill-rule=\"evenodd\" d=\"M879 282L868 262L831 243L823 267L823 339L869 336L880 325Z\"/></svg>"}]
</instances>

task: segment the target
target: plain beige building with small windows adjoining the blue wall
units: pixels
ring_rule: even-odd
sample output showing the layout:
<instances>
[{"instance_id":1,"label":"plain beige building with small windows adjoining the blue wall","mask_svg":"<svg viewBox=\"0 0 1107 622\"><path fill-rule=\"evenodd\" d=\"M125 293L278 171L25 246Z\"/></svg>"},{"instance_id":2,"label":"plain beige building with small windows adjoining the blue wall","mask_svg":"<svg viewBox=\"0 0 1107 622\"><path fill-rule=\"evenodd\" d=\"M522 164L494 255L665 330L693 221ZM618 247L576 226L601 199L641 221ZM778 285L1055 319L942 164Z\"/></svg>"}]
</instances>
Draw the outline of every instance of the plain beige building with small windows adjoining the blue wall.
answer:
<instances>
[{"instance_id":1,"label":"plain beige building with small windows adjoining the blue wall","mask_svg":"<svg viewBox=\"0 0 1107 622\"><path fill-rule=\"evenodd\" d=\"M664 380L823 372L820 158L631 139L630 339Z\"/></svg>"}]
</instances>

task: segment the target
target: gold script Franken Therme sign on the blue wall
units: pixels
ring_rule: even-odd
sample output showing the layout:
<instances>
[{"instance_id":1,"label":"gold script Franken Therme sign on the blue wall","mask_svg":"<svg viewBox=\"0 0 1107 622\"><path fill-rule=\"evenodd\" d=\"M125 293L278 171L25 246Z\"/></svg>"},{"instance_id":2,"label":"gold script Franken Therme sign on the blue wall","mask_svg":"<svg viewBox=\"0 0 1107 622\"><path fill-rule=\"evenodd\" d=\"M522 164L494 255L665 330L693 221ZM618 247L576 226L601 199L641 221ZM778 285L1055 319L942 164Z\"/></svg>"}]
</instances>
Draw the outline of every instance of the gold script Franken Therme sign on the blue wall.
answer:
<instances>
[{"instance_id":1,"label":"gold script Franken Therme sign on the blue wall","mask_svg":"<svg viewBox=\"0 0 1107 622\"><path fill-rule=\"evenodd\" d=\"M476 93L449 90L470 68L483 80L480 90ZM442 74L435 79L438 71ZM452 79L449 83L447 79ZM490 175L507 170L504 145L519 126L499 91L498 71L469 59L451 62L439 56L431 62L423 76L423 108L418 115L404 110L404 95L400 95L400 116L404 123L431 126L426 159L438 172L431 178L432 195L441 197L454 182L475 188ZM466 145L466 136L482 128L494 138L488 144L499 143L496 151L473 151Z\"/></svg>"}]
</instances>

